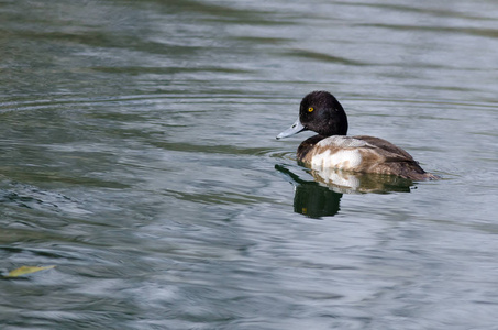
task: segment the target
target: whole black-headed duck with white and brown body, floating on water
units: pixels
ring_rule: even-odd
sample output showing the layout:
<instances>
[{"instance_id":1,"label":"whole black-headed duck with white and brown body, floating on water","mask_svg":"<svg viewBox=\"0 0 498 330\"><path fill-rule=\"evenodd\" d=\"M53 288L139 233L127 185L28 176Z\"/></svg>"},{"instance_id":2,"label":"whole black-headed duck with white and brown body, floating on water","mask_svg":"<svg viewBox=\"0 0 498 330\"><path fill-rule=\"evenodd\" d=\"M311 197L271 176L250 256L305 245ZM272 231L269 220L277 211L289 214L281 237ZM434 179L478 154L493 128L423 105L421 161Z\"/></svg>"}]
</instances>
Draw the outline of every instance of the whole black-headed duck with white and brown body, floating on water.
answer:
<instances>
[{"instance_id":1,"label":"whole black-headed duck with white and brown body, floating on water","mask_svg":"<svg viewBox=\"0 0 498 330\"><path fill-rule=\"evenodd\" d=\"M436 179L413 157L392 143L374 136L346 136L347 117L341 103L328 91L312 91L301 101L298 120L277 139L302 131L318 134L303 141L298 160L313 169L397 175L412 180Z\"/></svg>"}]
</instances>

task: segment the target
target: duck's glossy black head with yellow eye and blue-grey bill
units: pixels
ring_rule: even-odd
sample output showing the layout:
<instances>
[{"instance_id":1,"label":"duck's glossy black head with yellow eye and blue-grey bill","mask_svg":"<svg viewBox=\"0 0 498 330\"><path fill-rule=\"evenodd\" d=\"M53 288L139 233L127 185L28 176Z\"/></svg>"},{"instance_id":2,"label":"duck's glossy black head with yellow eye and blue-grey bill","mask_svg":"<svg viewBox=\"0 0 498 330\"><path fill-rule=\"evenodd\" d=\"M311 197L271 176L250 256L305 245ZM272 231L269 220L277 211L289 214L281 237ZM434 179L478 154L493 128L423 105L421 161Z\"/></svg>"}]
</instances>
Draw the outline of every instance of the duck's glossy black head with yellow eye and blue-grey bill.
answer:
<instances>
[{"instance_id":1,"label":"duck's glossy black head with yellow eye and blue-grey bill","mask_svg":"<svg viewBox=\"0 0 498 330\"><path fill-rule=\"evenodd\" d=\"M322 136L346 135L347 117L341 103L328 91L318 90L308 94L299 108L299 119L277 139L302 131L313 131Z\"/></svg>"}]
</instances>

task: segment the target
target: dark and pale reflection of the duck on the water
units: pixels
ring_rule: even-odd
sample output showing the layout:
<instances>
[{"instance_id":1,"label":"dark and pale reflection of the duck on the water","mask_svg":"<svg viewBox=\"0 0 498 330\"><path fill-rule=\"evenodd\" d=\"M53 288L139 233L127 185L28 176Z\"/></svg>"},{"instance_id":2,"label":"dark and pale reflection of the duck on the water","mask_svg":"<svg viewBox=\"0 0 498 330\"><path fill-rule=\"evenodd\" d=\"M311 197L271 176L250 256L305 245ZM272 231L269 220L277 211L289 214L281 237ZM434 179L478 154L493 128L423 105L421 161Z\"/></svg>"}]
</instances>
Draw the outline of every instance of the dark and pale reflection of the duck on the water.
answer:
<instances>
[{"instance_id":1,"label":"dark and pale reflection of the duck on the water","mask_svg":"<svg viewBox=\"0 0 498 330\"><path fill-rule=\"evenodd\" d=\"M309 169L313 180L305 180L285 165L275 168L295 186L294 211L310 218L332 217L340 210L343 194L409 193L413 182L392 175L345 173L333 168Z\"/></svg>"}]
</instances>

